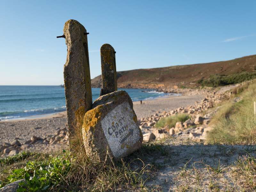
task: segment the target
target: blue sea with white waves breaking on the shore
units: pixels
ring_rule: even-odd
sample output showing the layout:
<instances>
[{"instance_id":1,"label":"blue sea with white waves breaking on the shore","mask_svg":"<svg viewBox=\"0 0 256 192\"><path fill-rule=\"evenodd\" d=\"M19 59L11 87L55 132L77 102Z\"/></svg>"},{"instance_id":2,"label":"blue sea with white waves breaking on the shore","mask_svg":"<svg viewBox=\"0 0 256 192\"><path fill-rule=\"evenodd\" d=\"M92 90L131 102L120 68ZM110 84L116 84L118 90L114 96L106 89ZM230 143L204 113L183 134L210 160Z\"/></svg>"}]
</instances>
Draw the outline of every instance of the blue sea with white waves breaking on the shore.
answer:
<instances>
[{"instance_id":1,"label":"blue sea with white waves breaking on the shore","mask_svg":"<svg viewBox=\"0 0 256 192\"><path fill-rule=\"evenodd\" d=\"M150 100L175 93L149 89L122 89L132 101ZM100 88L92 88L92 100L99 97ZM0 120L23 119L66 110L64 87L61 86L0 86Z\"/></svg>"}]
</instances>

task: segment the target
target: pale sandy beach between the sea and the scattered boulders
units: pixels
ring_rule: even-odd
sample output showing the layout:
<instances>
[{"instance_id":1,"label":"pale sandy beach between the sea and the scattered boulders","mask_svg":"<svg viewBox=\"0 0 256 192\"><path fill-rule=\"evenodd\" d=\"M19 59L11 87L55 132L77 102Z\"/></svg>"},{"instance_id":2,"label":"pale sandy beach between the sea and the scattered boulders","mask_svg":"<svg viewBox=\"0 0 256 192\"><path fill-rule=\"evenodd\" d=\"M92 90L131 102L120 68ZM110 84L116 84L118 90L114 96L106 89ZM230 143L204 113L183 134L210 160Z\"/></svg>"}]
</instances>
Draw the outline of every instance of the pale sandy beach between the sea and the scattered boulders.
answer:
<instances>
[{"instance_id":1,"label":"pale sandy beach between the sea and the scattered boulders","mask_svg":"<svg viewBox=\"0 0 256 192\"><path fill-rule=\"evenodd\" d=\"M148 117L155 113L170 111L178 107L186 107L194 105L196 101L203 99L202 95L186 95L186 96L169 96L154 100L144 100L142 104L139 101L133 102L134 111L138 119ZM44 116L29 117L27 119L16 119L9 121L0 121L0 145L5 142L11 143L17 139L21 145L29 141L32 136L38 138L50 138L60 130L66 130L66 112L49 114ZM47 144L47 143L46 143ZM54 145L51 149L56 149ZM45 143L36 142L30 145L29 150L42 151L46 150ZM47 149L48 150L48 149Z\"/></svg>"}]
</instances>

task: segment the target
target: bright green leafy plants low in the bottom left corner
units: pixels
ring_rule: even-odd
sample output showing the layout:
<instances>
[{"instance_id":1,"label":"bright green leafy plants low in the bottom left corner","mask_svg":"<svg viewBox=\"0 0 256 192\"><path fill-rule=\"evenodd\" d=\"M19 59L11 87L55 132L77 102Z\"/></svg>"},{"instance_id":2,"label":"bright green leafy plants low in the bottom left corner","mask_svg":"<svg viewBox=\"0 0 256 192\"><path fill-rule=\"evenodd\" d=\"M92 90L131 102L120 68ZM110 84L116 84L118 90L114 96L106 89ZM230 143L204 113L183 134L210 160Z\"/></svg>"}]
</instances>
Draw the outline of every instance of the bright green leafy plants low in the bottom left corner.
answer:
<instances>
[{"instance_id":1,"label":"bright green leafy plants low in the bottom left corner","mask_svg":"<svg viewBox=\"0 0 256 192\"><path fill-rule=\"evenodd\" d=\"M70 171L71 162L69 153L57 157L50 156L45 161L29 161L24 168L13 170L7 180L12 183L25 178L24 182L20 182L18 192L45 191L63 181L62 178Z\"/></svg>"}]
</instances>

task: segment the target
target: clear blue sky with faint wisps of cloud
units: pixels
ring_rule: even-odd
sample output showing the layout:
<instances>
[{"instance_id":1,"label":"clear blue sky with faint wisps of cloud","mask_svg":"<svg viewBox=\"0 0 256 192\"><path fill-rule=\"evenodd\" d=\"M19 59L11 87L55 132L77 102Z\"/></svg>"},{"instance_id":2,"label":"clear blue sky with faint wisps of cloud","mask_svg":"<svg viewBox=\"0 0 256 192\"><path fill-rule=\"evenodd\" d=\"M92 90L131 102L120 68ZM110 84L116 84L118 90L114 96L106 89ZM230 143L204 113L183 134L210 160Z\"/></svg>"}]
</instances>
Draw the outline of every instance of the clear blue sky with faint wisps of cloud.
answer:
<instances>
[{"instance_id":1,"label":"clear blue sky with faint wisps of cloud","mask_svg":"<svg viewBox=\"0 0 256 192\"><path fill-rule=\"evenodd\" d=\"M256 54L256 1L0 0L0 85L60 85L64 23L86 28L91 78L100 47L116 51L117 71L230 60Z\"/></svg>"}]
</instances>

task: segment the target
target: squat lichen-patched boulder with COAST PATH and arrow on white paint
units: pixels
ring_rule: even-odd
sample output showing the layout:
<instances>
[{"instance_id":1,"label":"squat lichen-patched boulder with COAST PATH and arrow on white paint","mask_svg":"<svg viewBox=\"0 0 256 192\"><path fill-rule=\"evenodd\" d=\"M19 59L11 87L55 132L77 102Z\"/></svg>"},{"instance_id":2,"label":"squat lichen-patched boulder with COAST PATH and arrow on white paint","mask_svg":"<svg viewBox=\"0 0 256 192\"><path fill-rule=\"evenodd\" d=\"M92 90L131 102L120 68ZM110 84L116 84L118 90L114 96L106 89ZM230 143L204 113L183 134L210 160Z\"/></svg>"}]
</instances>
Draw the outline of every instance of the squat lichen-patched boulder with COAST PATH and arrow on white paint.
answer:
<instances>
[{"instance_id":1,"label":"squat lichen-patched boulder with COAST PATH and arrow on white paint","mask_svg":"<svg viewBox=\"0 0 256 192\"><path fill-rule=\"evenodd\" d=\"M99 97L84 115L82 128L86 154L105 160L107 151L118 160L139 149L143 136L132 100L125 91Z\"/></svg>"}]
</instances>

